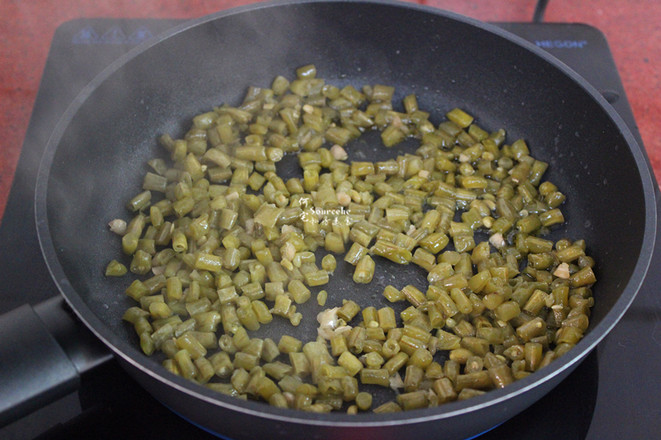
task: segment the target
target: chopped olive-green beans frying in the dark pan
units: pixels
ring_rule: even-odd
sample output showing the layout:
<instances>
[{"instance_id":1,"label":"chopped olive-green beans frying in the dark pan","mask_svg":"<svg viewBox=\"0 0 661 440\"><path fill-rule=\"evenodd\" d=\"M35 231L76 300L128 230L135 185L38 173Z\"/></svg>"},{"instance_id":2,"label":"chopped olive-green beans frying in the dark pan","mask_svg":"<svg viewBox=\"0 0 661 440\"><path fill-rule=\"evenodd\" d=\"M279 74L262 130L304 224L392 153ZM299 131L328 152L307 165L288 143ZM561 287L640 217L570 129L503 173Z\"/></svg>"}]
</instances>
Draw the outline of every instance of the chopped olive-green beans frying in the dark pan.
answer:
<instances>
[{"instance_id":1,"label":"chopped olive-green beans frying in the dark pan","mask_svg":"<svg viewBox=\"0 0 661 440\"><path fill-rule=\"evenodd\" d=\"M463 109L432 114L410 93L398 106L395 92L306 65L159 138L130 221L109 223L124 255L105 267L137 277L123 320L146 355L219 393L357 414L502 388L581 340L598 266L585 241L543 237L565 222L548 163ZM370 130L419 146L371 161L353 143ZM298 177L278 174L287 155ZM385 260L424 275L373 292ZM334 282L355 293L337 298ZM317 333L297 332L310 307ZM273 322L291 333L262 338Z\"/></svg>"}]
</instances>

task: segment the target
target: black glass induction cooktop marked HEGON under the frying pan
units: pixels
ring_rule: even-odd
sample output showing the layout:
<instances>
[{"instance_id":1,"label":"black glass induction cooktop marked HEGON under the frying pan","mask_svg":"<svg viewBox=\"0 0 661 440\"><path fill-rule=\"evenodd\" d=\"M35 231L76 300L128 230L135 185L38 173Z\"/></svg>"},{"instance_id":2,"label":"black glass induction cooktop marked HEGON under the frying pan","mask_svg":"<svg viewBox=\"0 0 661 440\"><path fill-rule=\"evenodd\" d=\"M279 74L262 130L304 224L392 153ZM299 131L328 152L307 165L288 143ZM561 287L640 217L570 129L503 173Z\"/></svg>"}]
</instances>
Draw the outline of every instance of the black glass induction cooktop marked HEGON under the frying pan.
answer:
<instances>
[{"instance_id":1,"label":"black glass induction cooktop marked HEGON under the frying pan","mask_svg":"<svg viewBox=\"0 0 661 440\"><path fill-rule=\"evenodd\" d=\"M104 67L176 20L81 19L54 35L0 225L0 313L57 294L41 257L33 197L43 147L59 116ZM588 79L631 127L642 145L608 43L580 24L499 23L537 44ZM657 199L659 195L657 193ZM661 217L661 216L660 216ZM649 439L661 432L661 245L631 308L609 336L538 403L479 436L495 439ZM0 438L217 438L179 418L144 392L114 362L82 377L77 392L0 429ZM186 436L186 437L184 437Z\"/></svg>"}]
</instances>

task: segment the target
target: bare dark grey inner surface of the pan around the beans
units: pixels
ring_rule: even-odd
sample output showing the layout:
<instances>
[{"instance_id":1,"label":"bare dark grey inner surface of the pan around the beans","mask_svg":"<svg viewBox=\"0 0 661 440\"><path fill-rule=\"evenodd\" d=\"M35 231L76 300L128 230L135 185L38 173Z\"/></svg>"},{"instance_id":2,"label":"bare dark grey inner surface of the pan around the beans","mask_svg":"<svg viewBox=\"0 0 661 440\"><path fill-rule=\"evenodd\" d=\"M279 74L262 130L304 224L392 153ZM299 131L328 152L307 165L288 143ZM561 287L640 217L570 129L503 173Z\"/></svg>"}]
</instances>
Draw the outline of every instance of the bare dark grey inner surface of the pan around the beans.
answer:
<instances>
[{"instance_id":1,"label":"bare dark grey inner surface of the pan around the beans","mask_svg":"<svg viewBox=\"0 0 661 440\"><path fill-rule=\"evenodd\" d=\"M238 104L248 86L269 87L276 75L291 77L295 68L314 64L319 77L338 86L393 85L393 102L415 93L434 123L461 107L488 130L505 128L509 142L524 138L532 155L549 163L545 179L568 196L563 207L567 223L553 237L584 238L597 260L591 327L614 324L619 316L612 310L619 305L618 313L624 312L622 304L628 305L637 288L631 280L642 277L641 266L646 269L640 259L649 258L649 176L641 174L639 147L584 84L489 29L440 11L393 3L280 3L200 20L127 57L95 80L67 113L42 170L40 240L63 294L128 363L156 371L150 373L154 376L164 374L139 352L133 329L121 320L133 305L123 294L126 278L103 275L108 261L121 254L107 223L130 218L125 203L140 191L147 160L163 156L158 136L182 135L195 114ZM392 275L388 266L382 267L381 278L360 291L351 272L344 279L334 276L329 303L355 295L382 307L387 305L380 296L383 287L393 283L389 273L398 282L400 273L412 283L424 281L417 268L399 268ZM316 313L311 313L304 317L306 332L315 328ZM566 355L564 365L584 354ZM512 387L523 392L534 383ZM502 399L505 393L494 395ZM483 405L489 397L476 402ZM265 414L270 411L278 414L263 407ZM434 418L443 411L423 415ZM342 417L338 420L347 420ZM361 420L384 419L365 415Z\"/></svg>"}]
</instances>

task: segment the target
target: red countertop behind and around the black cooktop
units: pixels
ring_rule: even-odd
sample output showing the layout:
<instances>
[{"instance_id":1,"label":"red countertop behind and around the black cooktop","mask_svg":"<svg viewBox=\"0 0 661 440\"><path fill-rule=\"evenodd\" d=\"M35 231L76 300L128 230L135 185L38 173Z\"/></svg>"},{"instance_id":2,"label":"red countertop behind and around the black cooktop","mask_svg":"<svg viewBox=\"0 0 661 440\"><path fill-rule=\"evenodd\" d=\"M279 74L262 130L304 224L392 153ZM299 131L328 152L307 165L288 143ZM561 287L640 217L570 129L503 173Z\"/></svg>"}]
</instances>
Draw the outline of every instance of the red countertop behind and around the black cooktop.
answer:
<instances>
[{"instance_id":1,"label":"red countertop behind and around the black cooktop","mask_svg":"<svg viewBox=\"0 0 661 440\"><path fill-rule=\"evenodd\" d=\"M9 195L53 34L76 18L190 19L251 0L0 0L0 219ZM531 21L536 0L420 0L483 21ZM661 180L661 2L550 0L546 22L585 23L608 40Z\"/></svg>"}]
</instances>

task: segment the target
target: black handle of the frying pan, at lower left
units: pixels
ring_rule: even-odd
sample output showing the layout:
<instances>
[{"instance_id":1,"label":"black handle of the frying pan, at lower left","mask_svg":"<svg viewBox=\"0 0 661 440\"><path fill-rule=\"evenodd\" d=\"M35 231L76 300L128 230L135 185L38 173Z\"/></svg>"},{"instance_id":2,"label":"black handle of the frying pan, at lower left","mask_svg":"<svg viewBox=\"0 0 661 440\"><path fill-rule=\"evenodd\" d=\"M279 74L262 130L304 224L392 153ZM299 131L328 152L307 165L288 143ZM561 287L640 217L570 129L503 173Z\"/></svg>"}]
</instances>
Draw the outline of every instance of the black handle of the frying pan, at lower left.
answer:
<instances>
[{"instance_id":1,"label":"black handle of the frying pan, at lower left","mask_svg":"<svg viewBox=\"0 0 661 440\"><path fill-rule=\"evenodd\" d=\"M111 358L60 296L0 316L0 427L75 391Z\"/></svg>"}]
</instances>

